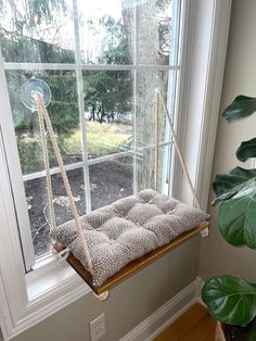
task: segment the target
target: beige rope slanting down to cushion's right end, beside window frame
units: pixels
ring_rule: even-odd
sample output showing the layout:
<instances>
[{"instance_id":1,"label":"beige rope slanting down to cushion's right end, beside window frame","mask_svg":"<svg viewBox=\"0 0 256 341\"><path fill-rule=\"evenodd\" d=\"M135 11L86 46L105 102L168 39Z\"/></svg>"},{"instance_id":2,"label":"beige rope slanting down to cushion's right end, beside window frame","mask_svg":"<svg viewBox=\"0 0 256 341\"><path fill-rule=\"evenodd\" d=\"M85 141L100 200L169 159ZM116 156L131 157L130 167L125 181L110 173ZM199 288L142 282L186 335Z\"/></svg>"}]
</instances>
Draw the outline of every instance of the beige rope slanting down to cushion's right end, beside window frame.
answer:
<instances>
[{"instance_id":1,"label":"beige rope slanting down to cushion's right end, beside window frame","mask_svg":"<svg viewBox=\"0 0 256 341\"><path fill-rule=\"evenodd\" d=\"M176 132L175 132L175 127L174 127L172 121L171 121L171 118L170 118L169 111L168 111L168 109L167 109L167 106L166 106L166 104L165 104L165 101L164 101L164 98L163 98L163 94L162 94L161 91L158 91L158 96L159 96L162 105L163 105L163 108L164 108L165 114L166 114L166 116L167 116L167 118L168 118L168 122L169 122L169 125L170 125L171 135L172 135L172 138L174 138L176 151L177 151L177 154L178 154L178 156L179 156L179 161L180 161L182 171L183 171L184 176L185 176L185 178L187 178L187 180L188 180L188 184L189 184L189 187L190 187L191 192L192 192L192 194L193 194L195 204L196 204L197 209L202 211L201 204L200 204L200 202L199 202L199 199L197 199L197 195L196 195L196 192L195 192L195 189L194 189L194 186L193 186L193 184L192 184L192 181L191 181L191 178L190 178L190 175L189 175L189 171L188 171L188 168L187 168L187 166L185 166L185 164L184 164L183 155L182 155L181 150L180 150L180 148L179 148L178 139L177 139L177 136L176 136Z\"/></svg>"}]
</instances>

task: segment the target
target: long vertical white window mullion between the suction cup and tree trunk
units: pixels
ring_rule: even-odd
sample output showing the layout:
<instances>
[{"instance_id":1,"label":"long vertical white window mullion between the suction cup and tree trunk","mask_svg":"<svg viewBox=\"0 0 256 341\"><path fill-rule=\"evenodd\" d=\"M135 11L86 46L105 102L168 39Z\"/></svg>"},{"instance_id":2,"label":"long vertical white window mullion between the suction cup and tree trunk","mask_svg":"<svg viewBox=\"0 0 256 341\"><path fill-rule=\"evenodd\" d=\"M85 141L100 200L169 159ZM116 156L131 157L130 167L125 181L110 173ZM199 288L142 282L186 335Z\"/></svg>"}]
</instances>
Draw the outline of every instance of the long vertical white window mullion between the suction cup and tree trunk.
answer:
<instances>
[{"instance_id":1,"label":"long vertical white window mullion between the suction cup and tree trunk","mask_svg":"<svg viewBox=\"0 0 256 341\"><path fill-rule=\"evenodd\" d=\"M90 212L91 211L91 192L90 192L88 153L87 153L87 129L86 129L86 117L85 117L84 84L82 84L79 17L78 17L77 0L73 0L73 20L74 20L74 34L75 34L75 56L76 56L78 106L79 106L81 136L82 136L82 159L86 163L84 166L86 210L87 212Z\"/></svg>"}]
</instances>

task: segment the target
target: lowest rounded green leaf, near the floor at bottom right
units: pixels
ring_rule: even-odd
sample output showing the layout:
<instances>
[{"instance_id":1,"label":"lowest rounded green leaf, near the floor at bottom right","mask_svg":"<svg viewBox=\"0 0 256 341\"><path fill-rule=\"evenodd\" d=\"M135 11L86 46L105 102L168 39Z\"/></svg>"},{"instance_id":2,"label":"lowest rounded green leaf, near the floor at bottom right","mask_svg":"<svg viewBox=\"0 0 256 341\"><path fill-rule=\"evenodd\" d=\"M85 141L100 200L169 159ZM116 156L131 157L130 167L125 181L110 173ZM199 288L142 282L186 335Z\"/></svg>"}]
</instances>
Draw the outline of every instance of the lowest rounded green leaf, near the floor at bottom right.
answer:
<instances>
[{"instance_id":1,"label":"lowest rounded green leaf, near the floor at bottom right","mask_svg":"<svg viewBox=\"0 0 256 341\"><path fill-rule=\"evenodd\" d=\"M256 287L235 276L208 279L202 299L215 319L229 325L247 325L256 316Z\"/></svg>"}]
</instances>

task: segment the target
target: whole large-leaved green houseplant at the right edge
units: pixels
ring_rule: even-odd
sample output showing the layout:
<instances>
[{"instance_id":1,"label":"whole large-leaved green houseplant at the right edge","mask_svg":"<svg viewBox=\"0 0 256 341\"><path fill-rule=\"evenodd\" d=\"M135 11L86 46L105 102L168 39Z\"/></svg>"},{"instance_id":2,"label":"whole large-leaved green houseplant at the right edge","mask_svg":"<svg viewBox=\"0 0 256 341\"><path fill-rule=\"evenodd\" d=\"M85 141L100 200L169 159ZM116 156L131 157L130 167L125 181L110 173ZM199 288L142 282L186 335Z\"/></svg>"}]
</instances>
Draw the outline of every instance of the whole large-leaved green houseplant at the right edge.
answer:
<instances>
[{"instance_id":1,"label":"whole large-leaved green houseplant at the right edge","mask_svg":"<svg viewBox=\"0 0 256 341\"><path fill-rule=\"evenodd\" d=\"M256 98L239 96L222 115L228 122L235 122L254 112ZM236 157L242 162L256 157L256 138L243 141L236 151ZM226 174L219 174L213 188L216 193L213 204L221 202L218 226L222 237L234 247L255 249L256 168L235 167ZM213 277L205 282L202 299L209 314L225 324L245 326L256 317L256 283L243 278L233 275ZM256 340L255 323L252 326L247 340Z\"/></svg>"}]
</instances>

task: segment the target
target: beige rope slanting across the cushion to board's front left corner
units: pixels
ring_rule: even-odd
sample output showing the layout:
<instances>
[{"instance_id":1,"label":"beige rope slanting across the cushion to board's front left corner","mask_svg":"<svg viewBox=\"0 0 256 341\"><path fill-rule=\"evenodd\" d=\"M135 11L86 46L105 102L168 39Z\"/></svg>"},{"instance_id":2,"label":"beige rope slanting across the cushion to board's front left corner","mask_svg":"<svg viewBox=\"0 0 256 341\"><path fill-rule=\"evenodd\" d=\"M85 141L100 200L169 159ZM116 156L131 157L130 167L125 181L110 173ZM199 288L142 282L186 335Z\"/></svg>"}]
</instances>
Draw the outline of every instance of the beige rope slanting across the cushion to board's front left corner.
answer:
<instances>
[{"instance_id":1,"label":"beige rope slanting across the cushion to board's front left corner","mask_svg":"<svg viewBox=\"0 0 256 341\"><path fill-rule=\"evenodd\" d=\"M69 186L68 178L67 178L67 175L66 175L66 169L64 168L64 164L63 164L62 155L61 155L61 152L60 152L60 148L57 146L56 137L55 137L54 130L52 128L51 119L50 119L49 114L48 114L48 112L46 110L46 106L44 106L41 93L39 93L39 92L36 93L36 99L37 99L37 103L38 103L38 111L40 112L40 115L42 115L43 118L44 118L44 122L46 122L46 125L47 125L47 129L48 129L50 139L52 141L52 147L53 147L53 150L54 150L54 154L55 154L57 164L60 166L61 175L62 175L63 182L64 182L64 186L65 186L65 190L66 190L66 193L67 193L67 197L68 197L68 200L69 200L69 205L71 205L72 214L74 216L75 226L77 228L78 236L79 236L79 238L80 238L80 240L82 242L82 249L84 249L84 252L85 252L86 261L87 261L87 264L88 264L88 268L89 268L89 270L91 273L92 271L92 263L91 263L90 253L89 253L89 250L88 250L88 247L87 247L87 242L86 242L86 239L85 239L84 230L82 230L82 227L81 227L81 224L80 224L80 218L79 218L79 215L77 213L75 201L74 201L74 198L73 198L73 194L72 194L71 186Z\"/></svg>"}]
</instances>

